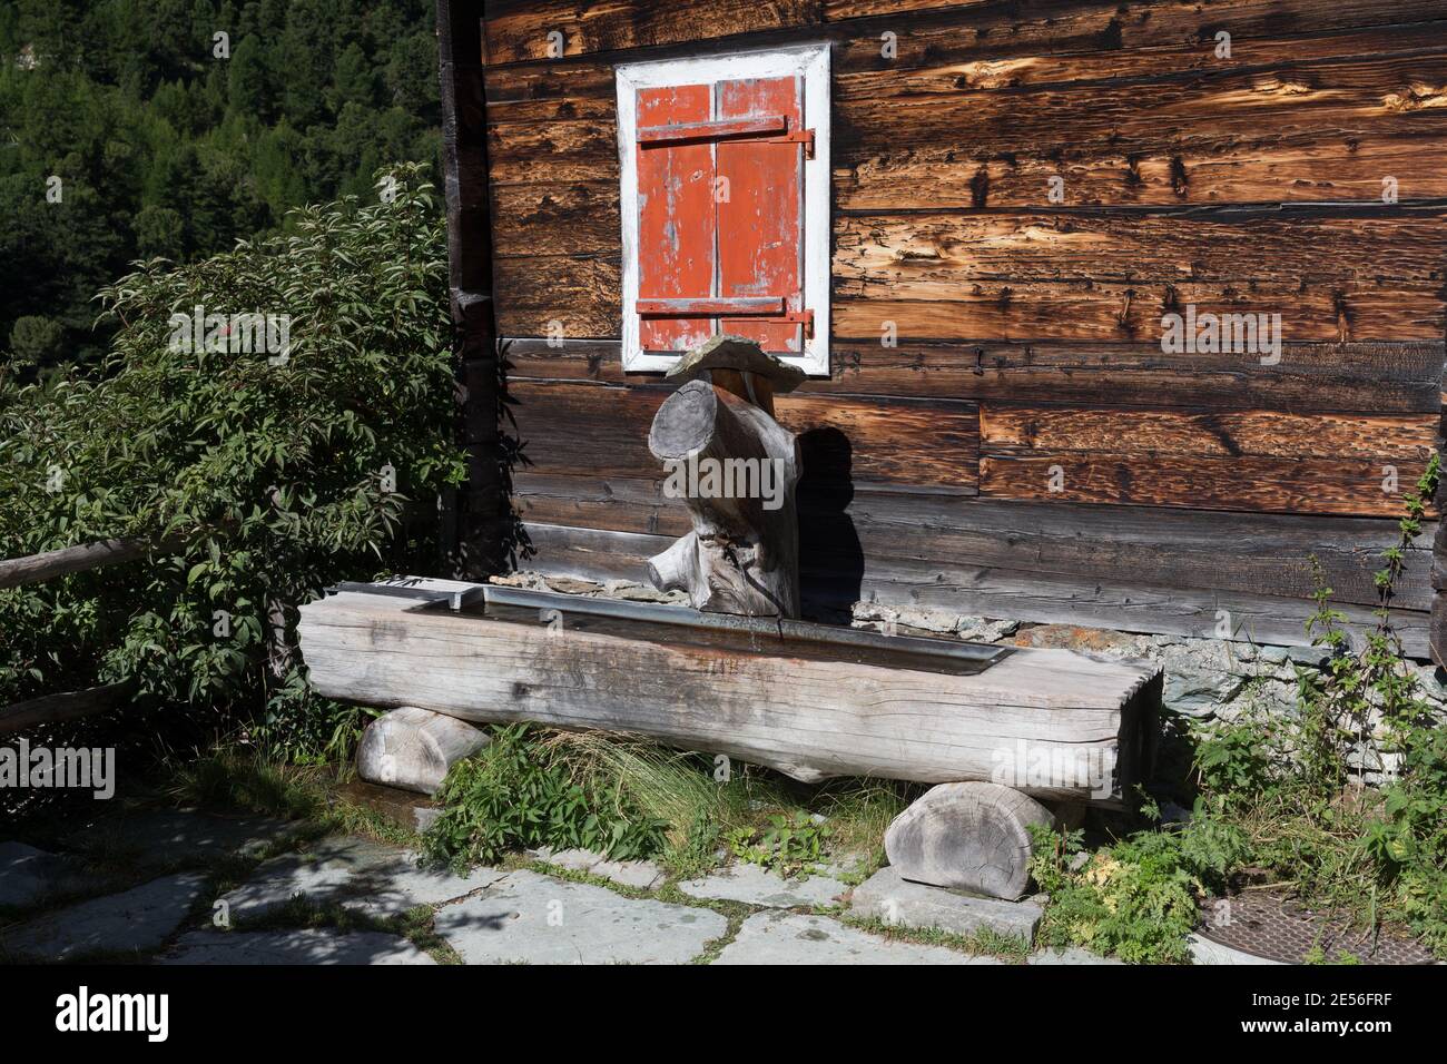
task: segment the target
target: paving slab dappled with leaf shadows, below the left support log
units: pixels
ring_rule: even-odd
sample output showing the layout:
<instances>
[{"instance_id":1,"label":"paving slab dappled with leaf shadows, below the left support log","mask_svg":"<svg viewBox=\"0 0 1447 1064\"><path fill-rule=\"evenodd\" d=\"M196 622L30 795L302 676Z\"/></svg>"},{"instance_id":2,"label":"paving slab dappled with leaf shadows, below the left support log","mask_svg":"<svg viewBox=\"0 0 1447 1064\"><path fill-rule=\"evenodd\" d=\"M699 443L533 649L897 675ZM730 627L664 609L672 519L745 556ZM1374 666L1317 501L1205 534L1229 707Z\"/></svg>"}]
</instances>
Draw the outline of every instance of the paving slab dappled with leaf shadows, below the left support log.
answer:
<instances>
[{"instance_id":1,"label":"paving slab dappled with leaf shadows, below the left support log","mask_svg":"<svg viewBox=\"0 0 1447 1064\"><path fill-rule=\"evenodd\" d=\"M502 879L496 869L466 876L417 867L405 850L363 838L328 838L305 853L263 861L252 879L221 900L233 921L265 916L304 895L315 905L341 905L372 916L395 916L418 905L441 905Z\"/></svg>"}]
</instances>

